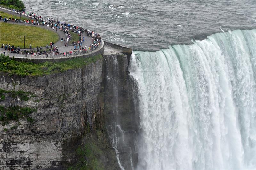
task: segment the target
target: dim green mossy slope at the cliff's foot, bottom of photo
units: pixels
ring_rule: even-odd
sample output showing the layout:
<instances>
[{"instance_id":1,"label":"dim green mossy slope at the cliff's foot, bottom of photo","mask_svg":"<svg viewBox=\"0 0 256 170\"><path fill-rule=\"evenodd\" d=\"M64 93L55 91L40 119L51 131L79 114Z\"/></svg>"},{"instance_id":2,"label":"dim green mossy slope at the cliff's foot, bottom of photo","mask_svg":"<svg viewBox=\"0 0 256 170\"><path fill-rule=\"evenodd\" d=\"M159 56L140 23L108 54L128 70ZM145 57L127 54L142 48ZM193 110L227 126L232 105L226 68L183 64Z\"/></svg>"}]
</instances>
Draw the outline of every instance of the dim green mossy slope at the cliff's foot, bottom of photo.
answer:
<instances>
[{"instance_id":1,"label":"dim green mossy slope at the cliff's foot, bottom of photo","mask_svg":"<svg viewBox=\"0 0 256 170\"><path fill-rule=\"evenodd\" d=\"M87 132L84 142L76 149L76 163L68 170L119 169L115 151L102 129Z\"/></svg>"}]
</instances>

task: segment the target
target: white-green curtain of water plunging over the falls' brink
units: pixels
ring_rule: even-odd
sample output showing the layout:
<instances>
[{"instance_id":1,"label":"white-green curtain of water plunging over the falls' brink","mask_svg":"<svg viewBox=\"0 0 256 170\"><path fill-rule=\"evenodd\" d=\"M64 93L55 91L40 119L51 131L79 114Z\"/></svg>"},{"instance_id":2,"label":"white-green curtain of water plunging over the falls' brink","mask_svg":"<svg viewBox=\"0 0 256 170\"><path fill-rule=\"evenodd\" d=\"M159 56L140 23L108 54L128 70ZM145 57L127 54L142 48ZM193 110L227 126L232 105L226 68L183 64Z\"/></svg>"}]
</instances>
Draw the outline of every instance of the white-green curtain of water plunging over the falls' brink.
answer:
<instances>
[{"instance_id":1,"label":"white-green curtain of water plunging over the falls' brink","mask_svg":"<svg viewBox=\"0 0 256 170\"><path fill-rule=\"evenodd\" d=\"M255 169L256 30L135 51L138 169Z\"/></svg>"}]
</instances>

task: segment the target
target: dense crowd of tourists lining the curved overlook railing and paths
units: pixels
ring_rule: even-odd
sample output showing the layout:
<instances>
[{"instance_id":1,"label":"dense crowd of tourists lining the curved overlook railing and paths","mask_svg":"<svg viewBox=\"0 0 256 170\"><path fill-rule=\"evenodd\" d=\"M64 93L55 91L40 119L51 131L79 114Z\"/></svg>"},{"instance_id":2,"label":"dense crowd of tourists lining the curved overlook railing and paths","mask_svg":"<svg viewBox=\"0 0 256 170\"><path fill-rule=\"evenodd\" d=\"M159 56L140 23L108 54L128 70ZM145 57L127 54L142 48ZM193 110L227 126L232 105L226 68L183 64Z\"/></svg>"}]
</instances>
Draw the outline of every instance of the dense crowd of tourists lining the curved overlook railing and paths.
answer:
<instances>
[{"instance_id":1,"label":"dense crowd of tourists lining the curved overlook railing and paths","mask_svg":"<svg viewBox=\"0 0 256 170\"><path fill-rule=\"evenodd\" d=\"M70 55L79 55L81 53L84 54L84 53L91 52L91 51L95 50L96 48L98 48L101 44L101 37L100 37L99 33L96 33L92 30L84 29L81 26L76 26L74 24L69 24L67 22L56 21L55 19L52 19L52 18L47 18L47 20L46 19L43 20L43 18L40 15L37 16L35 13L26 12L26 14L25 14L25 12L23 12L23 11L13 11L13 12L17 12L17 13L20 12L23 15L27 14L27 16L30 17L30 19L23 20L24 23L33 24L33 26L36 26L36 23L37 23L37 25L46 25L48 29L49 29L49 27L51 27L52 30L56 29L56 32L57 32L57 29L63 31L65 34L65 37L61 38L61 42L64 43L63 45L65 47L68 47L68 44L72 44L74 46L74 50L71 49L70 51L59 52L58 48L55 47L52 42L49 44L50 45L49 50L48 50L48 47L49 47L48 45L46 45L46 49L43 49L43 50L42 50L42 47L40 47L40 48L37 47L36 50L32 50L31 44L30 44L30 49L31 49L30 52L28 52L24 49L24 53L26 55L30 54L31 56L36 56L36 55L40 56L40 55L47 55L47 53L49 53L50 55L54 54L54 55L63 56L63 57L70 56ZM3 19L2 17L0 17L0 18ZM5 18L5 20L6 19L7 18ZM8 21L15 22L15 19L9 18ZM72 31L73 33L77 33L79 36L79 40L77 40L77 41L73 40L71 43L72 37L71 37L70 31ZM85 36L87 36L87 38L92 40L91 44L87 45L84 43ZM15 48L14 46L10 46L10 45L7 45L7 47L6 47L6 45L2 44L2 46L3 46L2 48L4 48L5 50L16 49L16 51L17 51L17 49L18 49L18 48ZM14 47L14 48L12 48L12 47ZM20 47L19 47L19 52L20 52ZM48 55L46 57L48 57Z\"/></svg>"}]
</instances>

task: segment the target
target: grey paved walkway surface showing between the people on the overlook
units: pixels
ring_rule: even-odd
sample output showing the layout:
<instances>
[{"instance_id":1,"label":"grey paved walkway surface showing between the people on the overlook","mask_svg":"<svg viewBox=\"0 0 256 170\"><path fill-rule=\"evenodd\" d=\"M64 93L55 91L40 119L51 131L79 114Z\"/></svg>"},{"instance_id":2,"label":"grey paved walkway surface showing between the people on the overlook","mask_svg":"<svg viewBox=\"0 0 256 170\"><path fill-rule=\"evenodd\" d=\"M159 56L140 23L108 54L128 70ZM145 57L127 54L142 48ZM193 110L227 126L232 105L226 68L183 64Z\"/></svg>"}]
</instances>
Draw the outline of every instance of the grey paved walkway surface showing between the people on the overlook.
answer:
<instances>
[{"instance_id":1,"label":"grey paved walkway surface showing between the people on the overlook","mask_svg":"<svg viewBox=\"0 0 256 170\"><path fill-rule=\"evenodd\" d=\"M0 7L1 8L1 11L2 12L5 12L5 13L9 13L9 14L12 14L12 15L16 15L17 17L20 17L20 14L17 14L16 12L13 12L13 11L11 11L11 10L7 10L7 9L3 9L2 7ZM28 19L30 19L30 17L27 17L27 15L22 15L22 17L25 17L25 18L28 18ZM20 25L20 23L16 23L16 22L7 22L7 23L9 23L9 24L17 24L17 25ZM1 24L4 24L4 21L3 20L1 20ZM21 25L25 25L25 26L33 26L33 24L27 24L27 23L21 23ZM36 24L36 27L40 27L40 28L44 28L44 29L48 29L47 28L47 24L46 25L37 25ZM49 26L49 30L51 30L51 31L53 31L52 29L51 29L51 27ZM56 32L55 30L54 30L54 32ZM64 32L62 32L60 29L58 30L58 35L59 35L59 40L56 42L56 43L54 43L55 44L55 46L57 46L57 48L58 48L58 51L59 52L66 52L66 51L70 51L70 49L73 51L73 49L74 49L74 46L73 45L69 45L68 47L65 47L65 44L64 44L64 41L63 42L61 42L61 37L63 37L63 39L65 40L65 33ZM83 35L83 34L82 34ZM85 39L85 41L83 42L83 46L85 46L86 44L87 44L87 46L89 46L91 43L92 43L92 40L91 40L91 37L87 37L87 35L85 35L84 34L84 39ZM72 41L72 40L71 40ZM6 43L6 42L1 42L1 43ZM8 42L7 42L8 43ZM31 44L32 45L32 47L33 47L33 44ZM46 44L45 44L46 45ZM49 44L48 44L48 46L49 46L49 48L50 48L50 42L49 42ZM20 47L21 48L21 47ZM44 47L45 48L45 47ZM36 48L33 48L33 50L35 50ZM1 51L4 51L4 48L0 48L0 50ZM22 50L22 49L21 49Z\"/></svg>"}]
</instances>

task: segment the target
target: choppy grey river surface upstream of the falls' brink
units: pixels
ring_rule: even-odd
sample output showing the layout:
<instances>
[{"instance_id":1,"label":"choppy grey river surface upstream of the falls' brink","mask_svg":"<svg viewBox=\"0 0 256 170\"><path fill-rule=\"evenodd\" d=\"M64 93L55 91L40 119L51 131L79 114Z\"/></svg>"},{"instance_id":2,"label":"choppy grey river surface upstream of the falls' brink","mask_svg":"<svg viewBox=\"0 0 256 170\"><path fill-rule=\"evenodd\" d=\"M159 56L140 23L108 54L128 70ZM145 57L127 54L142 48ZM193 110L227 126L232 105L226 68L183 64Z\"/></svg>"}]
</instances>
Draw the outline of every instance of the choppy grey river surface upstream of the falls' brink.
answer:
<instances>
[{"instance_id":1,"label":"choppy grey river surface upstream of the falls' brink","mask_svg":"<svg viewBox=\"0 0 256 170\"><path fill-rule=\"evenodd\" d=\"M191 44L191 39L203 40L220 32L219 27L223 25L229 30L256 28L253 20L256 1L204 1L202 4L201 1L166 0L60 0L36 1L36 5L29 0L23 2L29 12L36 11L44 18L52 18L57 13L61 21L90 28L100 33L103 40L112 36L108 31L135 34L139 38L124 36L121 38L126 41L111 42L140 51Z\"/></svg>"}]
</instances>

